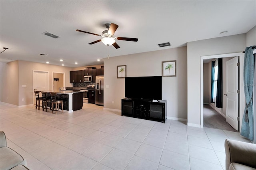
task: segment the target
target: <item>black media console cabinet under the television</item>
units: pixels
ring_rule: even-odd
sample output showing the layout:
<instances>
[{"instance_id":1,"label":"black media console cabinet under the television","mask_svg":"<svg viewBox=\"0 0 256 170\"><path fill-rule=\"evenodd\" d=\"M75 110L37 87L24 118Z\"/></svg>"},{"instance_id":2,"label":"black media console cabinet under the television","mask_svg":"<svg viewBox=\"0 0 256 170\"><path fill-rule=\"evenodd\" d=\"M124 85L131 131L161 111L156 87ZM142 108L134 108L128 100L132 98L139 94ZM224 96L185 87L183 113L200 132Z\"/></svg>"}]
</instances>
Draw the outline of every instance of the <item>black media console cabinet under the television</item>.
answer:
<instances>
[{"instance_id":1,"label":"black media console cabinet under the television","mask_svg":"<svg viewBox=\"0 0 256 170\"><path fill-rule=\"evenodd\" d=\"M167 101L122 99L122 116L136 117L165 123Z\"/></svg>"}]
</instances>

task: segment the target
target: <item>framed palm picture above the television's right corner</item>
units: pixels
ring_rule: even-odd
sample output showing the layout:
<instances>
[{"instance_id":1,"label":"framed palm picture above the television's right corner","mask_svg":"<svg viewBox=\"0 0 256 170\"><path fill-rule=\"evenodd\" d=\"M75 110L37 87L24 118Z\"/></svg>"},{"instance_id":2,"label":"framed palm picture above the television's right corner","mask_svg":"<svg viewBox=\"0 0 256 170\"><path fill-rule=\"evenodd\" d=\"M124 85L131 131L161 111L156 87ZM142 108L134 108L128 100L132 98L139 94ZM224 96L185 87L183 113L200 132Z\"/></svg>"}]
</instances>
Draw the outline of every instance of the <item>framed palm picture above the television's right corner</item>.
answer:
<instances>
[{"instance_id":1,"label":"framed palm picture above the television's right corner","mask_svg":"<svg viewBox=\"0 0 256 170\"><path fill-rule=\"evenodd\" d=\"M162 76L176 77L176 60L162 61Z\"/></svg>"}]
</instances>

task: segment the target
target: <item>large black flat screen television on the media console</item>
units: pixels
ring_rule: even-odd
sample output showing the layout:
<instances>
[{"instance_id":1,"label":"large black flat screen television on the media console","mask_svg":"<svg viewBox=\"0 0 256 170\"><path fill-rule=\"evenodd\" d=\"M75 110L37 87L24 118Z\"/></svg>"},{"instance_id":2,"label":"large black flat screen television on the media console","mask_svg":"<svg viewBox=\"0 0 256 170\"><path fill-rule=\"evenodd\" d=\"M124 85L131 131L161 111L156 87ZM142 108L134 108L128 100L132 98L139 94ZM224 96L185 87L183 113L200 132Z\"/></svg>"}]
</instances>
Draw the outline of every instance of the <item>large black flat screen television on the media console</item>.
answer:
<instances>
[{"instance_id":1,"label":"large black flat screen television on the media console","mask_svg":"<svg viewBox=\"0 0 256 170\"><path fill-rule=\"evenodd\" d=\"M125 77L125 97L162 100L162 76Z\"/></svg>"}]
</instances>

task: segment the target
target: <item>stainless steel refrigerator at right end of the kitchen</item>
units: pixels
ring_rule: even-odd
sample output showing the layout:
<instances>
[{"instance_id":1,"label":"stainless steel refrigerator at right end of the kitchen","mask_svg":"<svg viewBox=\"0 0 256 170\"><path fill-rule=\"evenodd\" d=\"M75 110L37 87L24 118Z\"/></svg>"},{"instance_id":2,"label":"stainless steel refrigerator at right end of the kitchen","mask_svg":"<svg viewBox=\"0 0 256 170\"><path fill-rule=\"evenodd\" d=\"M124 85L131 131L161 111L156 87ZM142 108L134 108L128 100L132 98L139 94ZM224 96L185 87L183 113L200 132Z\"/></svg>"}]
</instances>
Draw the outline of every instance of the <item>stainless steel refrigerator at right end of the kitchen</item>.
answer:
<instances>
[{"instance_id":1,"label":"stainless steel refrigerator at right end of the kitchen","mask_svg":"<svg viewBox=\"0 0 256 170\"><path fill-rule=\"evenodd\" d=\"M103 106L103 94L104 94L104 76L96 76L96 88L95 88L95 104Z\"/></svg>"}]
</instances>

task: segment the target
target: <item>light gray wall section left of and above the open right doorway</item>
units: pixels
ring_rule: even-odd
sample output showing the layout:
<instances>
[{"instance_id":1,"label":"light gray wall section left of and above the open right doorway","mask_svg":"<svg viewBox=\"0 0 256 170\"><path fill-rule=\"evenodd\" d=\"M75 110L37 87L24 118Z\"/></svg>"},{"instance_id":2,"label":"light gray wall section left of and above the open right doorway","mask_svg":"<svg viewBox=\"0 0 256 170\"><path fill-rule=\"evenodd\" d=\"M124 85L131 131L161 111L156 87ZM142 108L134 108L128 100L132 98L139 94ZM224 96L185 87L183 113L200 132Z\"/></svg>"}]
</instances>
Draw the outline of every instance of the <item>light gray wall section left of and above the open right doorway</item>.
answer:
<instances>
[{"instance_id":1,"label":"light gray wall section left of and above the open right doorway","mask_svg":"<svg viewBox=\"0 0 256 170\"><path fill-rule=\"evenodd\" d=\"M244 51L246 34L188 42L188 125L200 126L200 56Z\"/></svg>"}]
</instances>

